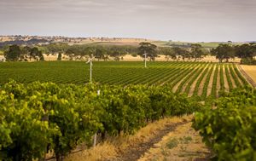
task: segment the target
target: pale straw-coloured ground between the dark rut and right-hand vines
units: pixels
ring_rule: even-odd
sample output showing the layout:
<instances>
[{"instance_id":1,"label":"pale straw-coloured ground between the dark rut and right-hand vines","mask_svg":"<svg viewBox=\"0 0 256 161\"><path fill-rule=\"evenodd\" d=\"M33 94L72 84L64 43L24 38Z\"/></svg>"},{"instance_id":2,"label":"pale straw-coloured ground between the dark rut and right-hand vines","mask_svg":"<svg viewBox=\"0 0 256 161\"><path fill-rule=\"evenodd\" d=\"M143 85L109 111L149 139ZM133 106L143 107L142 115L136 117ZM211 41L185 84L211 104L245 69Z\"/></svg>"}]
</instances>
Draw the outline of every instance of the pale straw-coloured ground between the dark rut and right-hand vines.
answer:
<instances>
[{"instance_id":1,"label":"pale straw-coloured ground between the dark rut and right-hand vines","mask_svg":"<svg viewBox=\"0 0 256 161\"><path fill-rule=\"evenodd\" d=\"M178 126L154 144L138 161L210 160L212 152L202 143L201 136L191 128L191 122Z\"/></svg>"}]
</instances>

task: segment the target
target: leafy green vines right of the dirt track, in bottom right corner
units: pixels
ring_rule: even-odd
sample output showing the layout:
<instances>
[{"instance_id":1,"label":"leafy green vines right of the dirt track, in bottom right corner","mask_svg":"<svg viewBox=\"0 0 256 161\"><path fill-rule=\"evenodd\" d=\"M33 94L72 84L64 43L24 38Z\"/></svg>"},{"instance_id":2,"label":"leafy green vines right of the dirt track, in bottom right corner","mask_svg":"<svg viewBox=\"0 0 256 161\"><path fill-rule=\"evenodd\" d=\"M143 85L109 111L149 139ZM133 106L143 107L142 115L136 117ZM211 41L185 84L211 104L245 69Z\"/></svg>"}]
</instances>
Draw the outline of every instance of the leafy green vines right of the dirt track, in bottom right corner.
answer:
<instances>
[{"instance_id":1,"label":"leafy green vines right of the dirt track, in bottom right corner","mask_svg":"<svg viewBox=\"0 0 256 161\"><path fill-rule=\"evenodd\" d=\"M234 89L215 104L214 109L195 113L193 127L218 160L255 160L256 91Z\"/></svg>"}]
</instances>

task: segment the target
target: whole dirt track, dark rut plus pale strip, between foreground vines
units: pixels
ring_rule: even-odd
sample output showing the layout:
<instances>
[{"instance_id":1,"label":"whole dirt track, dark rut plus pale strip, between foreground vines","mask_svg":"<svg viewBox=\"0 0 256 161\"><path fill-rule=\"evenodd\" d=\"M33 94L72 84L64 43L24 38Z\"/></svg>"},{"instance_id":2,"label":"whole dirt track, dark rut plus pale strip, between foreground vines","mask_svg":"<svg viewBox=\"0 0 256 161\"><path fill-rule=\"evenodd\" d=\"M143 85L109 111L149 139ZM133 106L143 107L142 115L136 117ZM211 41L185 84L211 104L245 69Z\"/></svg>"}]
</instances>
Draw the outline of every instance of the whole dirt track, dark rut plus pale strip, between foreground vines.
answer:
<instances>
[{"instance_id":1,"label":"whole dirt track, dark rut plus pale strip, between foreground vines","mask_svg":"<svg viewBox=\"0 0 256 161\"><path fill-rule=\"evenodd\" d=\"M112 160L146 161L155 160L155 156L157 156L157 158L162 158L163 155L165 158L169 158L167 160L173 160L172 158L190 160L189 158L191 157L208 160L212 152L210 152L201 141L201 136L192 129L191 120L192 116L187 116L185 118L183 117L181 121L166 125L164 129L157 131L154 134L154 137L150 140L144 142L138 141L137 143L130 145L125 149L125 151L118 152L118 157ZM163 152L162 149L166 148L166 143L168 143L172 138L179 139L179 145L177 148L173 148L174 151L167 152L170 149L165 149L165 152ZM182 139L183 141L181 141Z\"/></svg>"}]
</instances>

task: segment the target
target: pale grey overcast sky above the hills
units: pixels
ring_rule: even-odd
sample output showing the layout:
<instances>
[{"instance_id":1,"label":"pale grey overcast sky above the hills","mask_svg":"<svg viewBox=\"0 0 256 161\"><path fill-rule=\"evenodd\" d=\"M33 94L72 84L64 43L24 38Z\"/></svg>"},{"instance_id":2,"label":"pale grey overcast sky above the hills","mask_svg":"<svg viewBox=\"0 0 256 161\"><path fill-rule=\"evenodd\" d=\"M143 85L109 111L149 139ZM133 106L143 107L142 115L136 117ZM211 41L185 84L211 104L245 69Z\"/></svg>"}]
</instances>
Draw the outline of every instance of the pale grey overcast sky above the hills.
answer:
<instances>
[{"instance_id":1,"label":"pale grey overcast sky above the hills","mask_svg":"<svg viewBox=\"0 0 256 161\"><path fill-rule=\"evenodd\" d=\"M256 0L0 0L0 35L256 40Z\"/></svg>"}]
</instances>

